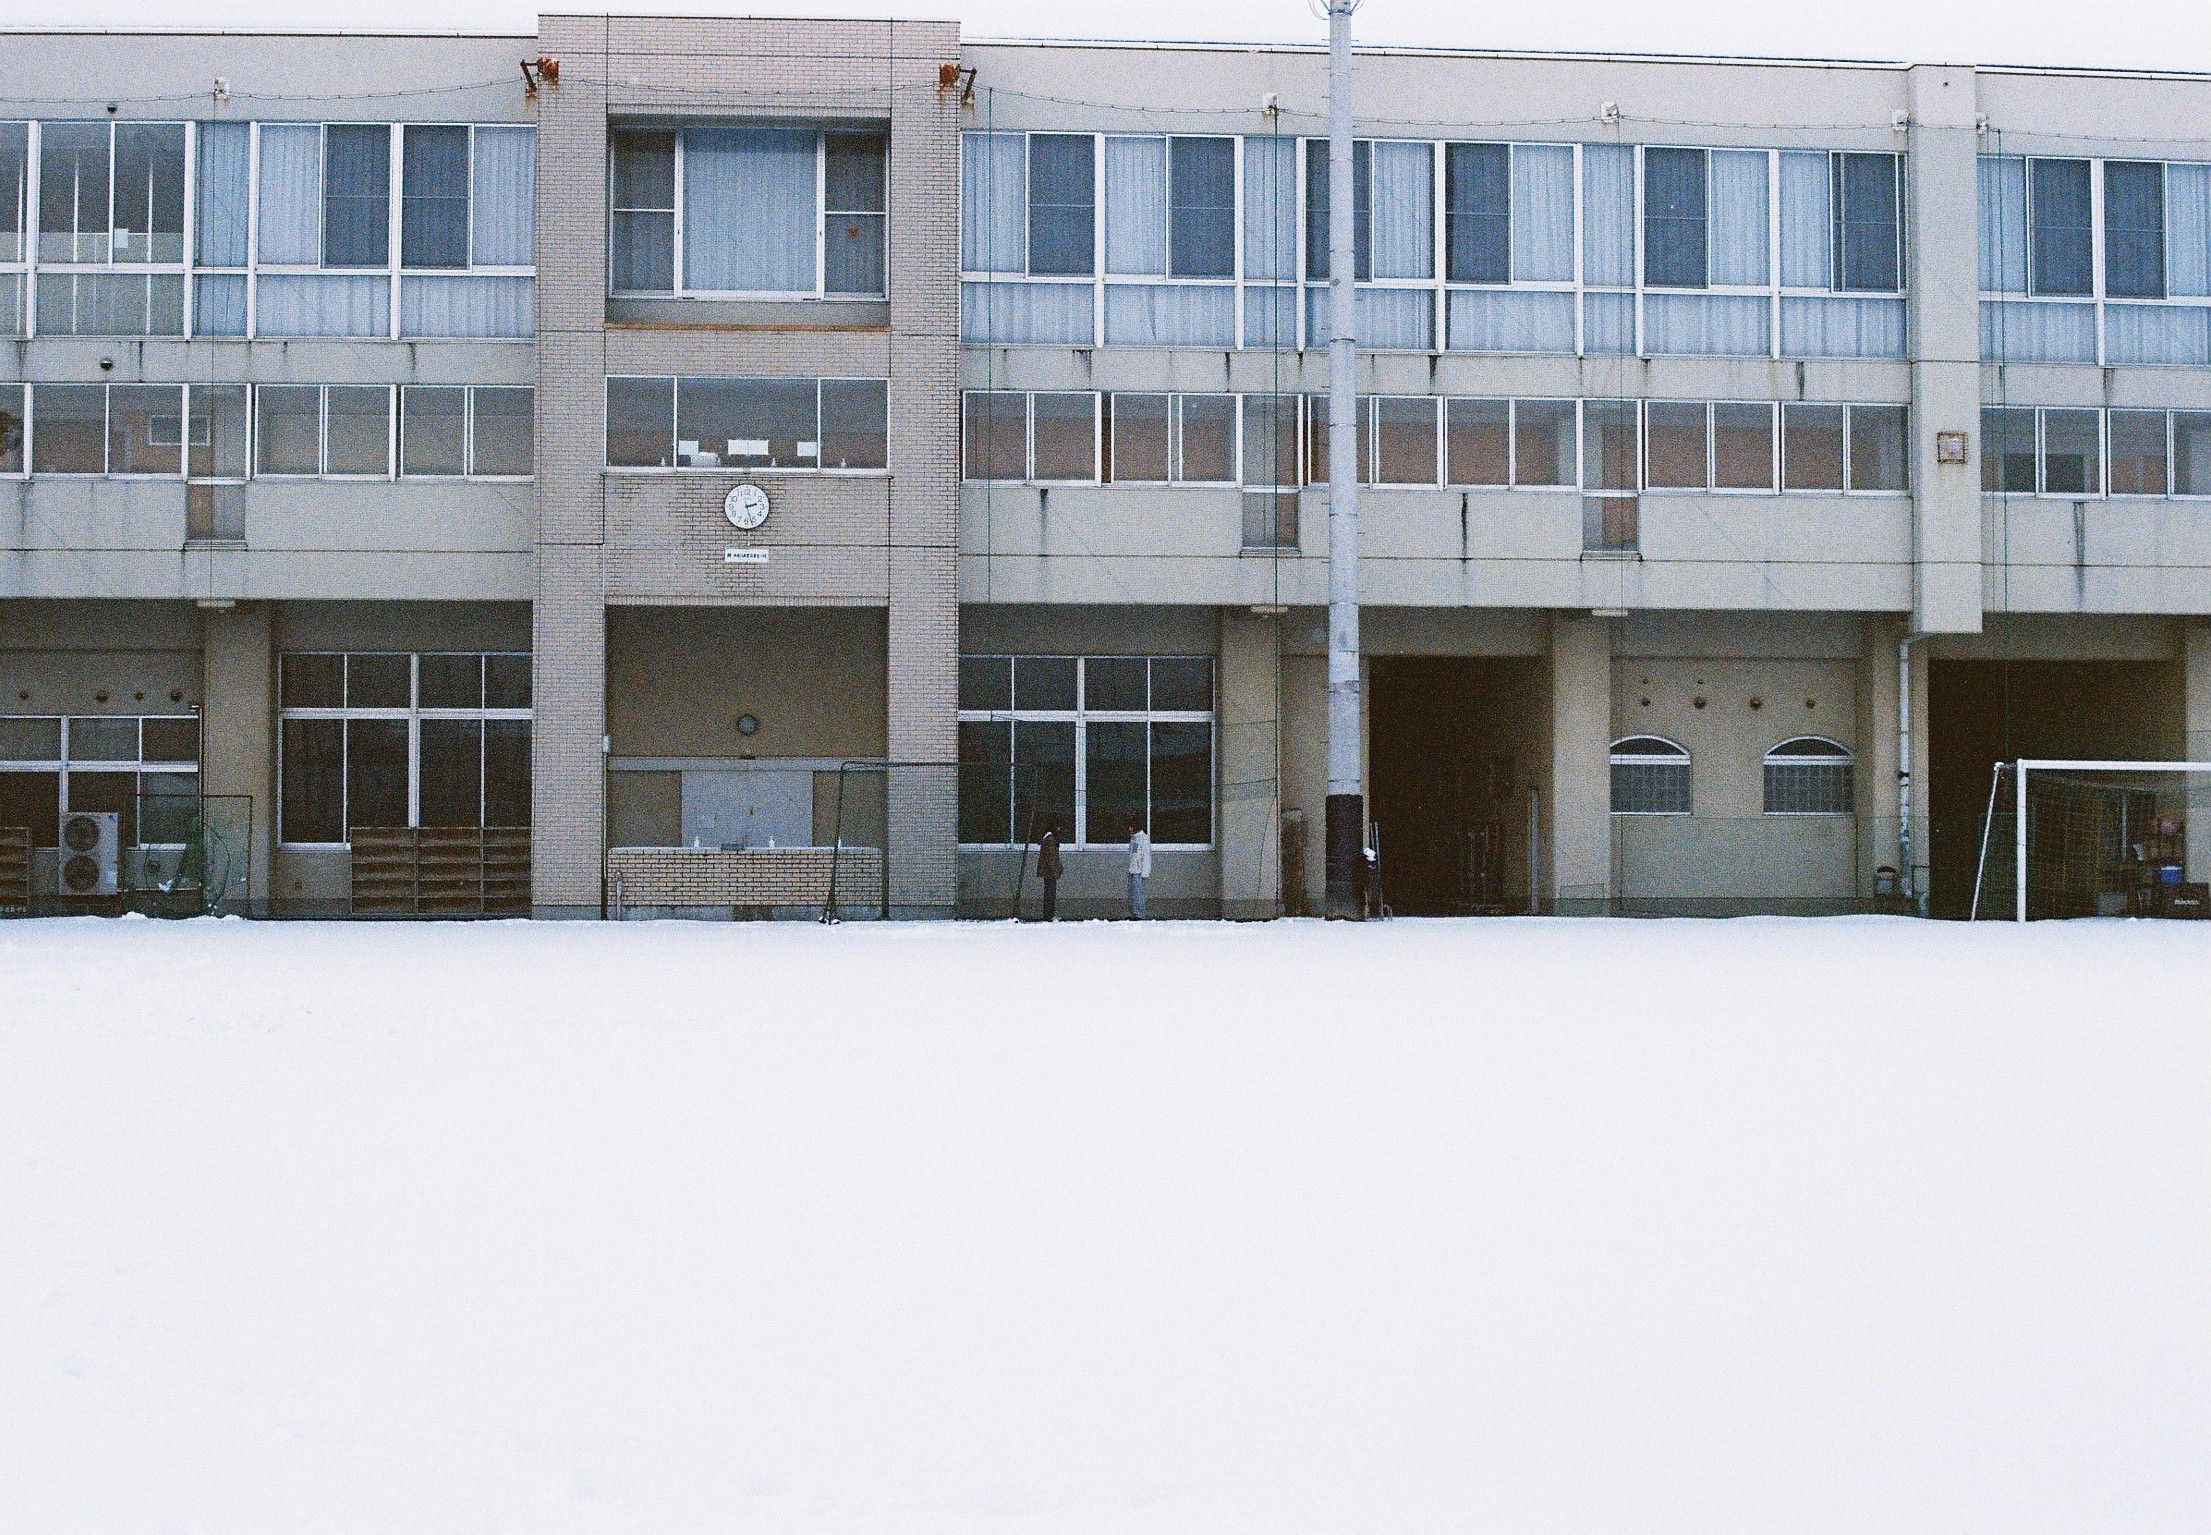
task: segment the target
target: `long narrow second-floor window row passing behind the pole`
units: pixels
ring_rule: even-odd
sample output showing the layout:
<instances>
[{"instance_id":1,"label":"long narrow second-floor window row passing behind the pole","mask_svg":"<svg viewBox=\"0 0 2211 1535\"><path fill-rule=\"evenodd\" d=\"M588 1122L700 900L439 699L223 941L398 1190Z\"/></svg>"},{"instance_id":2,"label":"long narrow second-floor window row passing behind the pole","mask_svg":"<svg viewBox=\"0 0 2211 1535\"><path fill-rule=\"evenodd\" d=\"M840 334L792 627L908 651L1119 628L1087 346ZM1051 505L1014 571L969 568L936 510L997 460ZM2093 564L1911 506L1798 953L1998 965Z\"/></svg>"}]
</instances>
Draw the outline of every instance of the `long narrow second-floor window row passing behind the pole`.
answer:
<instances>
[{"instance_id":1,"label":"long narrow second-floor window row passing behind the pole","mask_svg":"<svg viewBox=\"0 0 2211 1535\"><path fill-rule=\"evenodd\" d=\"M1298 487L1329 478L1329 400L1293 394L964 396L964 476ZM1901 405L1362 396L1360 480L1587 491L1901 491Z\"/></svg>"}]
</instances>

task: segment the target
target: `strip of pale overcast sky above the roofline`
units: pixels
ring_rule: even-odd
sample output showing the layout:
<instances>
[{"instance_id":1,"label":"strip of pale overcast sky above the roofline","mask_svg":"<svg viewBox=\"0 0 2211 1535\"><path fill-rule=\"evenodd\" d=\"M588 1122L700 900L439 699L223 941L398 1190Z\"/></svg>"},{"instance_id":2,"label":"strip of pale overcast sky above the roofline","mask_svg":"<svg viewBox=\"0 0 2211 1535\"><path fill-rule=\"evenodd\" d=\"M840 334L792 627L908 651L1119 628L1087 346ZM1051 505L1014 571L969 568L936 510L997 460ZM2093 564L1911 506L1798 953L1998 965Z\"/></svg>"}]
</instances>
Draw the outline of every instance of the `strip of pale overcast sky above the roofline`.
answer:
<instances>
[{"instance_id":1,"label":"strip of pale overcast sky above the roofline","mask_svg":"<svg viewBox=\"0 0 2211 1535\"><path fill-rule=\"evenodd\" d=\"M570 0L546 9L716 15L957 15L971 38L1161 38L1311 42L1322 24L1307 0ZM0 0L9 27L360 27L378 31L531 31L537 4L517 0ZM1800 58L1943 60L1974 64L2116 64L2211 71L2211 9L2202 0L1579 0L1477 7L1464 0L1369 0L1369 42L1479 49L1751 53Z\"/></svg>"}]
</instances>

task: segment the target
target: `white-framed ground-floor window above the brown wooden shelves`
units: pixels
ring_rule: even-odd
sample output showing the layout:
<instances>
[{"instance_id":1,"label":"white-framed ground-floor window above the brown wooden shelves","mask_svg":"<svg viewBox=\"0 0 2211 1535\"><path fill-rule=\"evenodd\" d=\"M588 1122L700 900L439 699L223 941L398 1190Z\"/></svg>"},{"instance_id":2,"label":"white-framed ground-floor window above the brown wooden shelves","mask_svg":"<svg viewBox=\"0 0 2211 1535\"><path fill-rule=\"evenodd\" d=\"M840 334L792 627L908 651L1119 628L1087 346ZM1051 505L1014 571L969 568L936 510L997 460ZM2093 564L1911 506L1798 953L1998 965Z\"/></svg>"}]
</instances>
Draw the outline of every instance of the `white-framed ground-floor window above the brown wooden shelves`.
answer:
<instances>
[{"instance_id":1,"label":"white-framed ground-floor window above the brown wooden shelves","mask_svg":"<svg viewBox=\"0 0 2211 1535\"><path fill-rule=\"evenodd\" d=\"M283 843L531 823L528 655L292 652L279 725Z\"/></svg>"}]
</instances>

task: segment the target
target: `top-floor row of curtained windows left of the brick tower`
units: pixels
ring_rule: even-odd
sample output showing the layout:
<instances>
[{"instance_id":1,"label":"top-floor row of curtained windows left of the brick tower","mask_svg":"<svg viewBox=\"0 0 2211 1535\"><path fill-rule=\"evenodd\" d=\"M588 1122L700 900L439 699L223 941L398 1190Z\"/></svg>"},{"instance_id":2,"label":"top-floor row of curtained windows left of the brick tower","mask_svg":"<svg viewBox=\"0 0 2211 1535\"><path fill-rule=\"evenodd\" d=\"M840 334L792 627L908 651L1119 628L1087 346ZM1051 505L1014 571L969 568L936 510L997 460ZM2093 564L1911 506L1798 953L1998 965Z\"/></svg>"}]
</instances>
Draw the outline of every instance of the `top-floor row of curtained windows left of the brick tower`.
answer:
<instances>
[{"instance_id":1,"label":"top-floor row of curtained windows left of the brick tower","mask_svg":"<svg viewBox=\"0 0 2211 1535\"><path fill-rule=\"evenodd\" d=\"M0 124L0 330L531 336L535 175L509 124Z\"/></svg>"}]
</instances>

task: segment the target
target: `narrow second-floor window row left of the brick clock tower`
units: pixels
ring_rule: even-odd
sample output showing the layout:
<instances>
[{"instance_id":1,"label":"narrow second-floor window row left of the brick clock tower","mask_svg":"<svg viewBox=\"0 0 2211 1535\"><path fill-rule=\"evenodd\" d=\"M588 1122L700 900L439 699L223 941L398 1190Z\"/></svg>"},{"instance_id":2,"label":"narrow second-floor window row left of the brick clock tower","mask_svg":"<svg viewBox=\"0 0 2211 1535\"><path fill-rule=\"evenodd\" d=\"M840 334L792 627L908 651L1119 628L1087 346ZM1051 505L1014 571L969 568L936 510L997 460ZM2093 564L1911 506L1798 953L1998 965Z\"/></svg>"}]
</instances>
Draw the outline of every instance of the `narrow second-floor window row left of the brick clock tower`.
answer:
<instances>
[{"instance_id":1,"label":"narrow second-floor window row left of the brick clock tower","mask_svg":"<svg viewBox=\"0 0 2211 1535\"><path fill-rule=\"evenodd\" d=\"M0 473L524 480L509 385L0 385Z\"/></svg>"}]
</instances>

